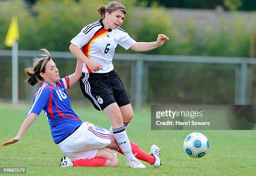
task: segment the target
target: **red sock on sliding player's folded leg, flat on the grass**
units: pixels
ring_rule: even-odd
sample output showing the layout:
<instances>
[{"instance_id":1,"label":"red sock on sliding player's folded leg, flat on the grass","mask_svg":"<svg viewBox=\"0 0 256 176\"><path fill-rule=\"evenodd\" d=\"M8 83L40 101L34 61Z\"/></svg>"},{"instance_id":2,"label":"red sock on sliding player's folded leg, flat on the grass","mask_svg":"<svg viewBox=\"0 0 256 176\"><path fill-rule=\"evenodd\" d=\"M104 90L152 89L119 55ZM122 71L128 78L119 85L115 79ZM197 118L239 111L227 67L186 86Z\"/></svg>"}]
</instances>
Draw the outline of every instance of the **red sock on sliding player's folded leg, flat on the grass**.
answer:
<instances>
[{"instance_id":1,"label":"red sock on sliding player's folded leg, flat on the grass","mask_svg":"<svg viewBox=\"0 0 256 176\"><path fill-rule=\"evenodd\" d=\"M106 158L91 158L91 159L80 159L74 160L72 163L76 166L87 166L87 167L102 167L107 163Z\"/></svg>"}]
</instances>

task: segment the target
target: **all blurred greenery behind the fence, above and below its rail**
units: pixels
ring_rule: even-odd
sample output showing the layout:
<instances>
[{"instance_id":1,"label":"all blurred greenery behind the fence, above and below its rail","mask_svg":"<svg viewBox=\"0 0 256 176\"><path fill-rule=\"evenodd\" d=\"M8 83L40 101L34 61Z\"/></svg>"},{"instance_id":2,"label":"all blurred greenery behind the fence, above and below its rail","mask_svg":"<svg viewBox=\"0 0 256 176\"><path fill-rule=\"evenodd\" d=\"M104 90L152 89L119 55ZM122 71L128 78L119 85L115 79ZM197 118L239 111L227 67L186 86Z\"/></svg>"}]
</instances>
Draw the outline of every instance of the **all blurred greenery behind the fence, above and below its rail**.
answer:
<instances>
[{"instance_id":1,"label":"all blurred greenery behind the fence, above and below its rail","mask_svg":"<svg viewBox=\"0 0 256 176\"><path fill-rule=\"evenodd\" d=\"M256 15L251 13L246 18L233 12L231 20L224 20L219 15L218 24L202 24L198 26L189 18L187 21L175 22L168 10L158 3L145 8L146 3L137 0L119 0L125 5L127 14L121 28L136 41L155 41L159 33L166 34L170 40L164 46L146 54L193 55L193 56L232 56L255 57ZM96 10L106 5L107 0L40 0L28 5L22 0L3 1L0 5L0 49L7 48L3 43L10 20L17 15L20 27L20 50L38 50L47 48L49 51L69 51L69 41L79 31L100 17ZM138 3L141 7L138 7ZM116 53L134 53L118 46ZM0 59L2 83L0 97L10 98L10 59ZM56 61L61 66L60 73L72 74L74 61ZM23 69L31 65L29 61L20 59L19 87L20 98L26 96L23 80L26 78ZM130 66L114 61L115 69L120 74L125 87L130 92ZM164 65L164 66L163 66ZM231 66L232 67L232 66ZM232 104L234 97L235 68L225 65L184 65L155 63L148 67L147 103L180 102L206 104ZM128 70L128 72L127 72ZM225 70L225 71L224 71ZM255 68L253 67L253 70ZM127 73L127 74L122 74ZM157 73L157 74L156 74ZM254 72L252 72L253 74ZM62 76L65 76L62 75ZM211 83L209 83L211 82ZM228 84L227 84L228 83ZM225 86L220 86L224 85ZM159 89L159 85L161 88ZM253 77L253 96L256 95L256 78ZM160 91L159 91L160 90ZM74 92L74 99L81 99L79 87ZM131 95L131 94L130 94ZM256 101L256 98L253 98Z\"/></svg>"}]
</instances>

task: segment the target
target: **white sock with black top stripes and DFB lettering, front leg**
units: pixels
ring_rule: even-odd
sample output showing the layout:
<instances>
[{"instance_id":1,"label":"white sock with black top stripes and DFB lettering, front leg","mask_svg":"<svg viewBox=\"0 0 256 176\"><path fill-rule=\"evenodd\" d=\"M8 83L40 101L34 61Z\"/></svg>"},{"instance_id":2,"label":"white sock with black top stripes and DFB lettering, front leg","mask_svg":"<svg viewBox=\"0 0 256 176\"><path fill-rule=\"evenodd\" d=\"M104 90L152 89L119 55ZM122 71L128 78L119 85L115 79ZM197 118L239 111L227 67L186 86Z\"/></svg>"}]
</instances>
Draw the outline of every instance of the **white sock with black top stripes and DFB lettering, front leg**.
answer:
<instances>
[{"instance_id":1,"label":"white sock with black top stripes and DFB lettering, front leg","mask_svg":"<svg viewBox=\"0 0 256 176\"><path fill-rule=\"evenodd\" d=\"M126 156L126 160L130 161L132 158L134 158L134 156L131 151L131 144L126 134L124 126L121 126L119 128L114 128L112 130L113 130L113 135L115 137L115 140L117 141L123 154Z\"/></svg>"}]
</instances>

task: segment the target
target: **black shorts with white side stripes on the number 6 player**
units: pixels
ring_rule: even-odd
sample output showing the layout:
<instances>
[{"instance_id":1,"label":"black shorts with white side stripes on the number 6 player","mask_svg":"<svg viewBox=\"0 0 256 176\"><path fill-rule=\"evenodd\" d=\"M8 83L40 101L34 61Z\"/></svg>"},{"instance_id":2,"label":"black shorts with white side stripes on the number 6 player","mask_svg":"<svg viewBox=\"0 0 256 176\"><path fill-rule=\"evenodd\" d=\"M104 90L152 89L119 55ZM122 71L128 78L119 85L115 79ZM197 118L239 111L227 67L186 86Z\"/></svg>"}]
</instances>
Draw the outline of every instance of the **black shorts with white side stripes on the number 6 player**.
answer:
<instances>
[{"instance_id":1,"label":"black shorts with white side stripes on the number 6 player","mask_svg":"<svg viewBox=\"0 0 256 176\"><path fill-rule=\"evenodd\" d=\"M104 110L116 102L119 107L128 105L130 100L115 70L108 73L83 73L80 88L84 97L90 99L97 110Z\"/></svg>"}]
</instances>

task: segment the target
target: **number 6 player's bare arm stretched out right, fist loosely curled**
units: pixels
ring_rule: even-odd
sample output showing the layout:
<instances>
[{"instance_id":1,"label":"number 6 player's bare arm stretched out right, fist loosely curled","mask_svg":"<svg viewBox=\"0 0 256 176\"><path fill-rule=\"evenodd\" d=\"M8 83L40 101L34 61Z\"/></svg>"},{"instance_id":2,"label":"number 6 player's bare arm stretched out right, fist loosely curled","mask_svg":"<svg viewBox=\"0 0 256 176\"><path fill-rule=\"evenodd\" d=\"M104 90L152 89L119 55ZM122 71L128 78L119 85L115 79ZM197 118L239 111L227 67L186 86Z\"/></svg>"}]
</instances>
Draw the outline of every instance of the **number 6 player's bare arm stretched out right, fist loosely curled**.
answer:
<instances>
[{"instance_id":1,"label":"number 6 player's bare arm stretched out right, fist loosely curled","mask_svg":"<svg viewBox=\"0 0 256 176\"><path fill-rule=\"evenodd\" d=\"M166 40L169 40L169 38L166 35L159 34L156 41L154 41L154 42L136 42L133 46L131 46L131 49L133 51L150 51L159 46L162 46Z\"/></svg>"}]
</instances>

